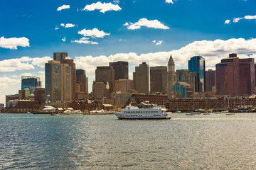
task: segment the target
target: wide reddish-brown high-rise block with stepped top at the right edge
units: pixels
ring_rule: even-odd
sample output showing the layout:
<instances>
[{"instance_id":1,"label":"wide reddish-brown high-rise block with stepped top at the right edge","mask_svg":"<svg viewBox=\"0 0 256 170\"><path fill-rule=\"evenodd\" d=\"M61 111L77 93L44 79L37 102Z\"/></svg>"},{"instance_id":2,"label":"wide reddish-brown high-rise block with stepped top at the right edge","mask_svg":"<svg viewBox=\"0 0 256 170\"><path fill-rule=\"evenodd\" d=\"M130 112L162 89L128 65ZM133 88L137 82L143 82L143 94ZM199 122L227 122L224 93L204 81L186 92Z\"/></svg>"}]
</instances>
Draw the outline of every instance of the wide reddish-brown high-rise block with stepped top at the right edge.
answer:
<instances>
[{"instance_id":1,"label":"wide reddish-brown high-rise block with stepped top at the right edge","mask_svg":"<svg viewBox=\"0 0 256 170\"><path fill-rule=\"evenodd\" d=\"M254 59L230 54L216 64L216 91L231 97L255 94Z\"/></svg>"}]
</instances>

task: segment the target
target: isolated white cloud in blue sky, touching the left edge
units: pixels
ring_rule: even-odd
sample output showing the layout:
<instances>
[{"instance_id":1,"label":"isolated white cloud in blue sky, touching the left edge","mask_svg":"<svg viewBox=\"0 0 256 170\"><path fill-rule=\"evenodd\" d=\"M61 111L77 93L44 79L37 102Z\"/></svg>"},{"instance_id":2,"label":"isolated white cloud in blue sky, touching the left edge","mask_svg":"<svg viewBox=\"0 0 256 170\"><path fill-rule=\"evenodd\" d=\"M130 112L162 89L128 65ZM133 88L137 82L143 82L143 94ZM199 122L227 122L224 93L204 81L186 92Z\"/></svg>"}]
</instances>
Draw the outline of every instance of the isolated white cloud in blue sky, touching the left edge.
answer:
<instances>
[{"instance_id":1,"label":"isolated white cloud in blue sky, touching the left edge","mask_svg":"<svg viewBox=\"0 0 256 170\"><path fill-rule=\"evenodd\" d=\"M29 47L28 38L0 38L0 47L17 49L18 46Z\"/></svg>"}]
</instances>

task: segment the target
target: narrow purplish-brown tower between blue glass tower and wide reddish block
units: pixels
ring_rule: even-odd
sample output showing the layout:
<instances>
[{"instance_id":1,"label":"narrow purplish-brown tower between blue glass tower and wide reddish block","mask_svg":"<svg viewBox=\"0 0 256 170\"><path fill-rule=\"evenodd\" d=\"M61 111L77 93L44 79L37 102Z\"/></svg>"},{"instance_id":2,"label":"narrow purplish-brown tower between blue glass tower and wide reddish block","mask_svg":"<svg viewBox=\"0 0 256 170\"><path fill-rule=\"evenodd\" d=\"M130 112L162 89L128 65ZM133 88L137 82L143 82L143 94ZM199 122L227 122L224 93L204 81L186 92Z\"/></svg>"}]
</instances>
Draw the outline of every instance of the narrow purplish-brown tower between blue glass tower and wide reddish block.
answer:
<instances>
[{"instance_id":1,"label":"narrow purplish-brown tower between blue glass tower and wide reddish block","mask_svg":"<svg viewBox=\"0 0 256 170\"><path fill-rule=\"evenodd\" d=\"M216 91L215 82L215 70L208 69L206 71L206 91Z\"/></svg>"}]
</instances>

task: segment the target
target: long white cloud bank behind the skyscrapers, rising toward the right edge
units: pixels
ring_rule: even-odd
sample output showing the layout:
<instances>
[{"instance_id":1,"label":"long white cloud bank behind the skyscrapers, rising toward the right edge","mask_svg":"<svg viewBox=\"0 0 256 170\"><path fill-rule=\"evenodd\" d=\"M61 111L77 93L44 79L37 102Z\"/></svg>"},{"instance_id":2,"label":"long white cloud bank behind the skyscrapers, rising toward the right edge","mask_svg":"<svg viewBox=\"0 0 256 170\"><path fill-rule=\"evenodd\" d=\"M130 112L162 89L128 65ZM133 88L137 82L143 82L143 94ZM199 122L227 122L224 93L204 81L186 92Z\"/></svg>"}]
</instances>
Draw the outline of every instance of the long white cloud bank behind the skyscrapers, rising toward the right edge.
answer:
<instances>
[{"instance_id":1,"label":"long white cloud bank behind the skyscrapers, rising toward the right edge","mask_svg":"<svg viewBox=\"0 0 256 170\"><path fill-rule=\"evenodd\" d=\"M134 64L142 62L150 66L166 65L170 55L174 57L176 65L186 64L191 57L201 55L206 58L207 67L215 67L221 58L228 57L230 53L237 53L238 57L245 58L250 55L256 59L256 38L245 40L243 38L229 40L202 40L192 42L178 50L168 52L154 52L138 55L135 52L118 53L115 55L98 57L75 57L75 63L79 64L87 73L94 73L97 66L109 65L109 62L127 61Z\"/></svg>"}]
</instances>

